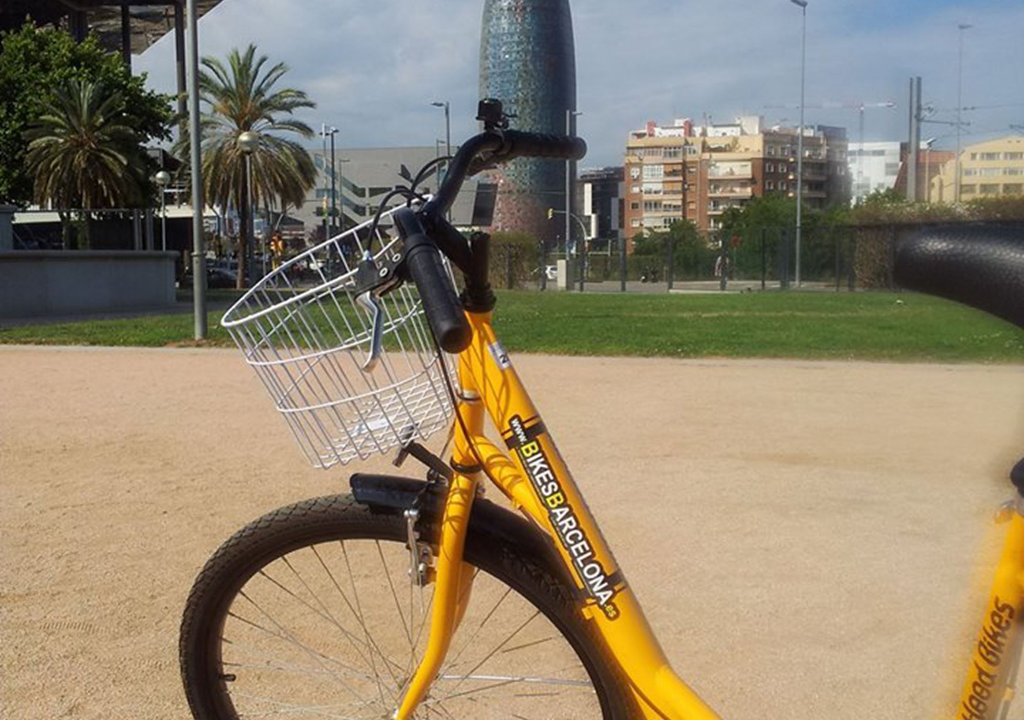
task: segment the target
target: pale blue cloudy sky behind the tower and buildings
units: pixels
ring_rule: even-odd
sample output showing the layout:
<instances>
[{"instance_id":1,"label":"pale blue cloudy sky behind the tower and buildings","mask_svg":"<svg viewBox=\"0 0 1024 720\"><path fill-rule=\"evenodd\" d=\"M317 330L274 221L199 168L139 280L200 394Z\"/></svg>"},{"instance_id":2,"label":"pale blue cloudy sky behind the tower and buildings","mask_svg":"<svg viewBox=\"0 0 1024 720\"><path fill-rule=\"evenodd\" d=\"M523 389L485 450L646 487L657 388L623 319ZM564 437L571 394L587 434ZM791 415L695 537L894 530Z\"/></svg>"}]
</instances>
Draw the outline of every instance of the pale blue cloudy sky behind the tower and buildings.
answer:
<instances>
[{"instance_id":1,"label":"pale blue cloudy sky behind the tower and buildings","mask_svg":"<svg viewBox=\"0 0 1024 720\"><path fill-rule=\"evenodd\" d=\"M648 120L763 115L796 126L800 111L800 8L786 0L574 0L578 132L582 167L621 165L626 138ZM223 56L250 42L291 72L286 84L317 107L301 117L337 127L339 147L432 145L476 132L482 0L223 0L200 21L200 52ZM905 139L909 79L951 121L958 24L964 34L964 141L1024 124L1024 2L1020 0L810 0L807 124L846 127L857 112L815 104L893 101L865 112L865 140ZM133 59L152 87L174 91L173 37ZM770 107L785 105L786 107ZM923 138L952 147L953 128ZM318 140L316 141L318 142ZM315 143L313 143L315 144Z\"/></svg>"}]
</instances>

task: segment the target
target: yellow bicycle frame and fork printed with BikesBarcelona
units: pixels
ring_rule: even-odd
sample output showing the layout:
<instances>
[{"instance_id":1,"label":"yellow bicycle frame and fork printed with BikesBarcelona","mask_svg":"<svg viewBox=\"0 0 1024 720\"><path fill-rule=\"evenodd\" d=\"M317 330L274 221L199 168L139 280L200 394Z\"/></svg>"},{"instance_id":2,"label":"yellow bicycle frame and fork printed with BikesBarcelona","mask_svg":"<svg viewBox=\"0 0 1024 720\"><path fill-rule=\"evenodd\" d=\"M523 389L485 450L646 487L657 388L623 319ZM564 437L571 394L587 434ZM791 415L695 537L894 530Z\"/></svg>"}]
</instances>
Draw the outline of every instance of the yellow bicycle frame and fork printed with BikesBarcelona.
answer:
<instances>
[{"instance_id":1,"label":"yellow bicycle frame and fork printed with BikesBarcelona","mask_svg":"<svg viewBox=\"0 0 1024 720\"><path fill-rule=\"evenodd\" d=\"M424 658L394 717L407 720L426 696L444 661L470 595L472 573L463 547L477 485L492 478L517 509L545 532L577 584L581 612L593 621L610 662L628 680L644 718L711 720L719 716L673 671L636 596L615 562L583 495L544 425L490 323L467 313L473 330L459 356L462 396L453 444L455 477L438 537L434 603ZM484 412L508 450L484 437ZM484 472L485 471L485 472ZM1010 520L986 614L956 717L1005 717L1020 663L1024 613L1024 516Z\"/></svg>"}]
</instances>

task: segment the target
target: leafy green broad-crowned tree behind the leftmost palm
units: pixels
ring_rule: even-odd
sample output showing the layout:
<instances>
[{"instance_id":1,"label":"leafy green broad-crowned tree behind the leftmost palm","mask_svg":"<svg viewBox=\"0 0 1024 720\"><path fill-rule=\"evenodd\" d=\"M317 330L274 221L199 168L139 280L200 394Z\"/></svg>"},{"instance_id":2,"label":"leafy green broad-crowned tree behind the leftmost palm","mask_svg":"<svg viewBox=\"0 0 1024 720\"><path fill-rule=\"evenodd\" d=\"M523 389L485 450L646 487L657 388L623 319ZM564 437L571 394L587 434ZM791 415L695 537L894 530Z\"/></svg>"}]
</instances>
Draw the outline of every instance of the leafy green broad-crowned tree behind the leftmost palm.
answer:
<instances>
[{"instance_id":1,"label":"leafy green broad-crowned tree behind the leftmost palm","mask_svg":"<svg viewBox=\"0 0 1024 720\"><path fill-rule=\"evenodd\" d=\"M76 43L68 33L26 22L0 35L0 201L31 201L34 177L26 165L26 132L53 100L54 89L70 80L119 94L131 110L124 120L140 143L170 138L169 98L146 90L144 75L133 77L121 56L103 50L95 36Z\"/></svg>"}]
</instances>

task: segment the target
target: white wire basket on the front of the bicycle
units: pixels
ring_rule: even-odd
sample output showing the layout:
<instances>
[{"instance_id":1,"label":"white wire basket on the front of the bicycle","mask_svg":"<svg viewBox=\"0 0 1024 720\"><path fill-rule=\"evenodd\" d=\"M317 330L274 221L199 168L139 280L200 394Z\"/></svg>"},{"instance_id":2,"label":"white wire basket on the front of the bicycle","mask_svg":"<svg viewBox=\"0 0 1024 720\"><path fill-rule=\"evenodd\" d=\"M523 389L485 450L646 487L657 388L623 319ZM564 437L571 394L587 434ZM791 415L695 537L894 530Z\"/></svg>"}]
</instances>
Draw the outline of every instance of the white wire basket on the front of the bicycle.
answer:
<instances>
[{"instance_id":1,"label":"white wire basket on the front of the bicycle","mask_svg":"<svg viewBox=\"0 0 1024 720\"><path fill-rule=\"evenodd\" d=\"M221 320L318 467L426 440L453 416L443 373L456 388L455 363L438 355L414 283L381 299L383 351L364 369L373 326L356 266L367 250L378 264L398 250L383 231L368 237L371 224L282 264Z\"/></svg>"}]
</instances>

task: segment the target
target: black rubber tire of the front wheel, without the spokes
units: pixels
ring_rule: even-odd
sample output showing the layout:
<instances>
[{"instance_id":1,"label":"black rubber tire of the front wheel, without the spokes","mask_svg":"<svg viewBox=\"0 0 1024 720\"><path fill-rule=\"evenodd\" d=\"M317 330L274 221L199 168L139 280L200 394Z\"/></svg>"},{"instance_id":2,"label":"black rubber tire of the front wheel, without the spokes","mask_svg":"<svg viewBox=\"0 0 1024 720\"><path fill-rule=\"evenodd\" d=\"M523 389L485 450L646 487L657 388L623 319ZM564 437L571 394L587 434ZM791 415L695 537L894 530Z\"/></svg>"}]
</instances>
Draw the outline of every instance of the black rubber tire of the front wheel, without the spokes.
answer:
<instances>
[{"instance_id":1,"label":"black rubber tire of the front wheel, without the spokes","mask_svg":"<svg viewBox=\"0 0 1024 720\"><path fill-rule=\"evenodd\" d=\"M341 538L402 542L406 532L400 514L372 509L345 494L278 508L225 541L197 577L181 620L178 659L193 717L233 720L223 710L218 638L230 600L257 570L309 544ZM562 634L590 675L604 720L630 717L629 700L623 695L626 684L606 661L603 642L583 619L573 592L556 573L481 534L467 538L465 559L516 590Z\"/></svg>"}]
</instances>

